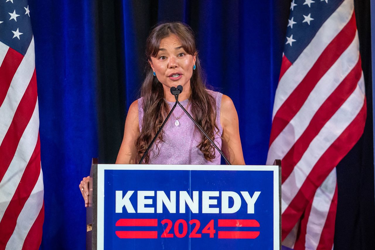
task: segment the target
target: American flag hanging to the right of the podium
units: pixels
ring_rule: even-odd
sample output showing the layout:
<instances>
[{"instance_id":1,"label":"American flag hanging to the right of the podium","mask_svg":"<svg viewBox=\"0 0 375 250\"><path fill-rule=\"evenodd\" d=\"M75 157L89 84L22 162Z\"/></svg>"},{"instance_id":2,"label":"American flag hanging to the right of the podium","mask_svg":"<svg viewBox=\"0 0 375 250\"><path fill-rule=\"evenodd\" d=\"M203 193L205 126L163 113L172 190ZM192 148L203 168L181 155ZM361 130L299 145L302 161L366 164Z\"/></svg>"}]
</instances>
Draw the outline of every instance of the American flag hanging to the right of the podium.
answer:
<instances>
[{"instance_id":1,"label":"American flag hanging to the right of the podium","mask_svg":"<svg viewBox=\"0 0 375 250\"><path fill-rule=\"evenodd\" d=\"M332 249L336 165L365 120L353 0L293 0L267 156L282 159L283 245Z\"/></svg>"}]
</instances>

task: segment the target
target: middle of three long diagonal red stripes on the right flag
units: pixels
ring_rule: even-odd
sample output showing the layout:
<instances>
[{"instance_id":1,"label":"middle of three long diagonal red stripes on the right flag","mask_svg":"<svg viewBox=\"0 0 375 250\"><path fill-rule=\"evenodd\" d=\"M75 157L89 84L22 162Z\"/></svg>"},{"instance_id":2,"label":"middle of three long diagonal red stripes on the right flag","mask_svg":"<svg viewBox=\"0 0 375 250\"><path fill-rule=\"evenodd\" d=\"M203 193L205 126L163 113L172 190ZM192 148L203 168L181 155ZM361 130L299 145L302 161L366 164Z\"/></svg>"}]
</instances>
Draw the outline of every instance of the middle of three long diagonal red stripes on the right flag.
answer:
<instances>
[{"instance_id":1,"label":"middle of three long diagonal red stripes on the right flag","mask_svg":"<svg viewBox=\"0 0 375 250\"><path fill-rule=\"evenodd\" d=\"M361 60L359 58L356 66L354 66L351 72L320 106L315 115L312 117L309 126L282 159L282 183L284 183L284 181L291 174L294 166L296 166L296 164L300 161L303 154L308 149L311 141L315 138L315 136L318 135L324 124L329 121L329 119L336 113L345 100L347 100L356 89L361 76L362 68Z\"/></svg>"}]
</instances>

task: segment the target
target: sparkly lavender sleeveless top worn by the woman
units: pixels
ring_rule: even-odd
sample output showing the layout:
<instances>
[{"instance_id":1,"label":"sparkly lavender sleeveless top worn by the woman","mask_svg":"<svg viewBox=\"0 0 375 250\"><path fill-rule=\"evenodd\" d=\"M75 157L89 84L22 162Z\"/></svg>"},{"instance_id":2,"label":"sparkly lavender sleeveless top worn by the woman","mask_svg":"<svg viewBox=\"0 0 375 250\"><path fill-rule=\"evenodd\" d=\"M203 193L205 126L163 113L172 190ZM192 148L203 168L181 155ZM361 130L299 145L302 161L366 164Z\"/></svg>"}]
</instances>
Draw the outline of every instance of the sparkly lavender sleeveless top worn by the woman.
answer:
<instances>
[{"instance_id":1,"label":"sparkly lavender sleeveless top worn by the woman","mask_svg":"<svg viewBox=\"0 0 375 250\"><path fill-rule=\"evenodd\" d=\"M220 125L220 105L222 94L215 91L208 92L216 100L216 125L219 132L215 135L215 143L221 149L221 135L223 129ZM180 102L182 106L191 114L190 105L187 105L188 99ZM167 102L172 108L174 102ZM187 106L187 108L186 108ZM139 130L142 130L143 119L142 97L138 99L138 119ZM175 117L178 119L179 125L175 126ZM215 131L216 132L216 131ZM177 136L179 135L179 136ZM184 113L180 106L176 106L173 114L169 117L163 127L163 142L160 141L156 148L156 143L150 149L150 164L191 164L191 165L220 165L221 155L215 149L215 159L212 162L204 159L203 153L197 148L201 141L201 132L196 128L192 120ZM159 152L159 154L157 154Z\"/></svg>"}]
</instances>

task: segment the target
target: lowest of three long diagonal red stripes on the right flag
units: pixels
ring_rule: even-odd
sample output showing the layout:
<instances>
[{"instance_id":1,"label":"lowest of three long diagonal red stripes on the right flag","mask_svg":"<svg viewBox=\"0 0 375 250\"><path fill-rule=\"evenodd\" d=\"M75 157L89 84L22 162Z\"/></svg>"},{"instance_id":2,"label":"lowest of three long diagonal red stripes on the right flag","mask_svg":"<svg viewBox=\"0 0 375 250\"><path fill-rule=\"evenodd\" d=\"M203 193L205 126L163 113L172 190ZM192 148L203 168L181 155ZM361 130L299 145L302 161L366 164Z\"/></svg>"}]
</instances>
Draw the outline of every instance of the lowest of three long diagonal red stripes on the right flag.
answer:
<instances>
[{"instance_id":1,"label":"lowest of three long diagonal red stripes on the right flag","mask_svg":"<svg viewBox=\"0 0 375 250\"><path fill-rule=\"evenodd\" d=\"M282 214L282 240L290 233L298 222L309 201L333 168L353 148L363 133L366 121L366 99L362 109L341 133L335 142L324 152L306 178L296 197Z\"/></svg>"}]
</instances>

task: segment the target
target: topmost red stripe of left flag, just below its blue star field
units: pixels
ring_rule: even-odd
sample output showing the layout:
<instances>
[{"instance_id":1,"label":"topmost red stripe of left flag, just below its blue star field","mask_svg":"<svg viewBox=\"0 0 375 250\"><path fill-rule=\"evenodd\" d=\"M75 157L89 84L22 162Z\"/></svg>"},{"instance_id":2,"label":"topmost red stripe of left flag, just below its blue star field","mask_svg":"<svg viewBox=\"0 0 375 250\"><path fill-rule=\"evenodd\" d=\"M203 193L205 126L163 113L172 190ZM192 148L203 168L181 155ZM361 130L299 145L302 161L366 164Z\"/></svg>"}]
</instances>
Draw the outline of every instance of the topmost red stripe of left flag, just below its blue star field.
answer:
<instances>
[{"instance_id":1,"label":"topmost red stripe of left flag, just below its blue star field","mask_svg":"<svg viewBox=\"0 0 375 250\"><path fill-rule=\"evenodd\" d=\"M8 92L10 82L20 66L23 55L10 48L6 52L3 63L0 66L0 106L3 104L6 93Z\"/></svg>"}]
</instances>

